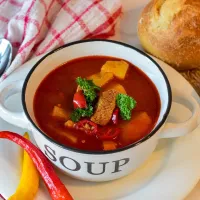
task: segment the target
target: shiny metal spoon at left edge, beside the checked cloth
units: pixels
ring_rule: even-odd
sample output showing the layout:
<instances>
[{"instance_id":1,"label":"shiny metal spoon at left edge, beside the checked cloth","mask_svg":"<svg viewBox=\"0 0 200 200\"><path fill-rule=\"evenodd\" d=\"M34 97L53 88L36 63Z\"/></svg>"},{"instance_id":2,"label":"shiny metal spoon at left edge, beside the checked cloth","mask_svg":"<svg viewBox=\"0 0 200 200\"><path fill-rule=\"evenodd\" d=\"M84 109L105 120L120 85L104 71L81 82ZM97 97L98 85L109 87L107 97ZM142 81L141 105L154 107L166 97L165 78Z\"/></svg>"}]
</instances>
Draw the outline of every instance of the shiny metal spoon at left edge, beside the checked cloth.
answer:
<instances>
[{"instance_id":1,"label":"shiny metal spoon at left edge, beside the checked cloth","mask_svg":"<svg viewBox=\"0 0 200 200\"><path fill-rule=\"evenodd\" d=\"M0 77L10 66L12 60L12 45L4 38L0 39Z\"/></svg>"}]
</instances>

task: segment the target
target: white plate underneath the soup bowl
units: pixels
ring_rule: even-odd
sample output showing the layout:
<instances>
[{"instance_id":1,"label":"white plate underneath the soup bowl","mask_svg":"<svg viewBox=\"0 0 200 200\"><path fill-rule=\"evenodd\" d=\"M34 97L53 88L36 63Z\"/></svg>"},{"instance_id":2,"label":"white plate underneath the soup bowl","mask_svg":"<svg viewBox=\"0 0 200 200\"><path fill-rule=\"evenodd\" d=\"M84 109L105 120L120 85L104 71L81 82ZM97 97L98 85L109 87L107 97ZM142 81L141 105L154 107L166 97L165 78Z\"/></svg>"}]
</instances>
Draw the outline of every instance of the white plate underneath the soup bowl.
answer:
<instances>
[{"instance_id":1,"label":"white plate underneath the soup bowl","mask_svg":"<svg viewBox=\"0 0 200 200\"><path fill-rule=\"evenodd\" d=\"M2 83L23 79L36 59L26 63L21 70L13 73ZM193 88L175 70L165 63L158 61L166 72L172 88L184 90L193 95L199 102ZM8 100L8 106L14 110L21 110L20 95ZM172 110L176 115L171 120L182 121L191 113L179 104L173 104ZM24 130L16 128L0 119L0 129L16 131L20 134ZM188 136L160 141L156 151L149 160L137 171L120 180L107 183L88 183L67 177L59 172L59 176L66 184L76 200L182 200L192 190L200 177L200 128ZM9 142L0 141L0 193L6 198L16 189L21 173L21 150ZM129 195L129 196L127 196ZM41 183L37 200L47 200L50 197Z\"/></svg>"}]
</instances>

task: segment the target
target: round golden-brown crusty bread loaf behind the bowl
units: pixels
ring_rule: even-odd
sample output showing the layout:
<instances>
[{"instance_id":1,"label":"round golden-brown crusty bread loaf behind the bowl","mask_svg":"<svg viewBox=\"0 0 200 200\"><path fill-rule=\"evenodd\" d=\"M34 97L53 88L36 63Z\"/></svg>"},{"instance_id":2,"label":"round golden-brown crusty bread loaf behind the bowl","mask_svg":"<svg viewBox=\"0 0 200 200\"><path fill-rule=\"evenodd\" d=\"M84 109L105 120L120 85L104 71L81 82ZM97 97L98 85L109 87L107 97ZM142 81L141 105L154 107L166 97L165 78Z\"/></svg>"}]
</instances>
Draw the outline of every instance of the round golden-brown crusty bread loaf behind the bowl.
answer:
<instances>
[{"instance_id":1,"label":"round golden-brown crusty bread loaf behind the bowl","mask_svg":"<svg viewBox=\"0 0 200 200\"><path fill-rule=\"evenodd\" d=\"M148 53L177 70L200 68L200 0L152 0L138 35Z\"/></svg>"}]
</instances>

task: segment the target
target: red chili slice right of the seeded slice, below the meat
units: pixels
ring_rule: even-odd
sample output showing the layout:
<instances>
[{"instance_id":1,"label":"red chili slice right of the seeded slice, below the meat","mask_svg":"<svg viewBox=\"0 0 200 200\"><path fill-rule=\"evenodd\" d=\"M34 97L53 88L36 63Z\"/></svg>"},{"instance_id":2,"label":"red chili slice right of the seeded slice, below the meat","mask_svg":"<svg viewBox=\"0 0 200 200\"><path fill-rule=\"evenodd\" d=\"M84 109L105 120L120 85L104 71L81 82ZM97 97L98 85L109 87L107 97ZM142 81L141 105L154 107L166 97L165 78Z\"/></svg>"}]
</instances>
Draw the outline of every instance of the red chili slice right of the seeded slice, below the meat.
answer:
<instances>
[{"instance_id":1,"label":"red chili slice right of the seeded slice, below the meat","mask_svg":"<svg viewBox=\"0 0 200 200\"><path fill-rule=\"evenodd\" d=\"M104 127L98 130L96 135L97 138L100 140L110 140L110 139L116 139L119 134L120 134L120 128Z\"/></svg>"}]
</instances>

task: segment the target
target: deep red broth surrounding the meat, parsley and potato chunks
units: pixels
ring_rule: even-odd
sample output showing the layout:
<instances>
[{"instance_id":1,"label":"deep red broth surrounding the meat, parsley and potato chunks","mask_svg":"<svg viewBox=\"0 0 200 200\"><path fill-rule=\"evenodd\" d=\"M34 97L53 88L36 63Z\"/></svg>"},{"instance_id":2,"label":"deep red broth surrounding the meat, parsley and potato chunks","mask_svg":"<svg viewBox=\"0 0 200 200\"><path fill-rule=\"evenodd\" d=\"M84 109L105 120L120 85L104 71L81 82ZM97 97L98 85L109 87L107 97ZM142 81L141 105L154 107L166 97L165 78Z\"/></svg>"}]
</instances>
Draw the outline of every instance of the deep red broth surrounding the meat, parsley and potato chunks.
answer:
<instances>
[{"instance_id":1,"label":"deep red broth surrounding the meat, parsley and potato chunks","mask_svg":"<svg viewBox=\"0 0 200 200\"><path fill-rule=\"evenodd\" d=\"M111 86L120 85L125 89L126 94L137 102L130 120L123 120L118 116L117 124L113 124L111 120L105 125L106 128L120 130L117 137L102 141L97 135L86 134L80 129L67 127L72 123L69 119L74 111L76 78L87 78L99 73L107 61L120 61L120 59L104 56L83 57L59 66L45 77L34 98L35 118L44 133L65 146L80 150L102 151L125 147L151 132L160 112L159 94L152 81L140 69L127 61L129 68L124 80L114 77L98 91L98 95L101 96ZM98 98L95 101L98 102ZM52 115L55 106L64 110L64 117ZM97 105L94 106L94 112L96 109L98 109ZM86 119L90 120L88 117ZM99 124L97 126L102 127Z\"/></svg>"}]
</instances>

